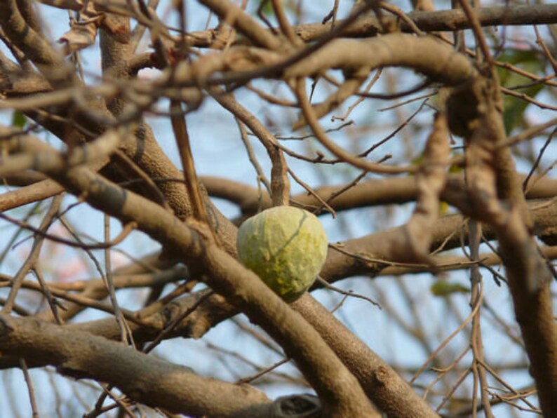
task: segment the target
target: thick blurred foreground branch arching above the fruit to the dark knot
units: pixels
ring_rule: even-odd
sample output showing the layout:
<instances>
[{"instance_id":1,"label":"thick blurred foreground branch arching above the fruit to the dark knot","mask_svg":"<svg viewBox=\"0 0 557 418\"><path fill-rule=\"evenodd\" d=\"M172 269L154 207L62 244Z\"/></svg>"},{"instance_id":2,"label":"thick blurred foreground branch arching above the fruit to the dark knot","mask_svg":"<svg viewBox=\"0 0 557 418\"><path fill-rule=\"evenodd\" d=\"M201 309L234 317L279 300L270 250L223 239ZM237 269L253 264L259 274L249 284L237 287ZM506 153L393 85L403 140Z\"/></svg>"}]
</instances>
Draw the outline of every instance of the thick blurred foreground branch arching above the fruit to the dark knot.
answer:
<instances>
[{"instance_id":1,"label":"thick blurred foreground branch arching above the fruit to the dark knot","mask_svg":"<svg viewBox=\"0 0 557 418\"><path fill-rule=\"evenodd\" d=\"M323 42L322 42L323 43ZM322 45L279 53L235 46L220 54L206 55L193 63L180 62L167 69L157 86L215 86L222 83L247 83L255 78L297 79L317 76L326 69L358 71L363 67L408 67L431 81L458 85L469 81L476 70L464 54L430 36L387 34L377 39L331 39ZM214 76L216 72L226 72Z\"/></svg>"}]
</instances>

